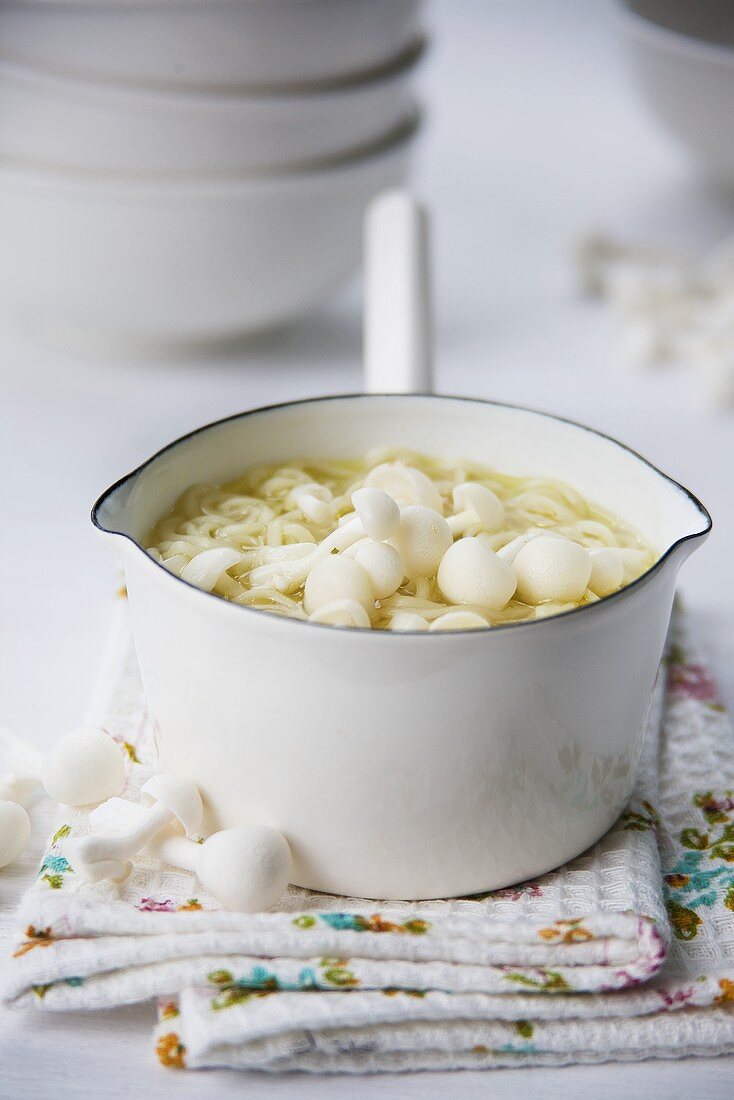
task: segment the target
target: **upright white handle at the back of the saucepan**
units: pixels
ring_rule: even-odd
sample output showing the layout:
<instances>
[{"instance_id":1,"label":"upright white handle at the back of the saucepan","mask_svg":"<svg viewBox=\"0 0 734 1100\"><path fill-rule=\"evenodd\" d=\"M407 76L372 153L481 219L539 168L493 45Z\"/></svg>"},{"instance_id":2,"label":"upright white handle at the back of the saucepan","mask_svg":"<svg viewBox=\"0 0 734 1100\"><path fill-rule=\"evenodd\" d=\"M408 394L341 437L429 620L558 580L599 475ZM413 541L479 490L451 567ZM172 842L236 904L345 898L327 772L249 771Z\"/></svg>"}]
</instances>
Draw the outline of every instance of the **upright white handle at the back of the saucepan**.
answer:
<instances>
[{"instance_id":1,"label":"upright white handle at the back of the saucepan","mask_svg":"<svg viewBox=\"0 0 734 1100\"><path fill-rule=\"evenodd\" d=\"M364 218L364 389L429 394L432 330L428 215L384 191Z\"/></svg>"}]
</instances>

